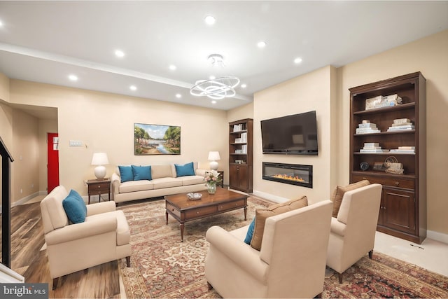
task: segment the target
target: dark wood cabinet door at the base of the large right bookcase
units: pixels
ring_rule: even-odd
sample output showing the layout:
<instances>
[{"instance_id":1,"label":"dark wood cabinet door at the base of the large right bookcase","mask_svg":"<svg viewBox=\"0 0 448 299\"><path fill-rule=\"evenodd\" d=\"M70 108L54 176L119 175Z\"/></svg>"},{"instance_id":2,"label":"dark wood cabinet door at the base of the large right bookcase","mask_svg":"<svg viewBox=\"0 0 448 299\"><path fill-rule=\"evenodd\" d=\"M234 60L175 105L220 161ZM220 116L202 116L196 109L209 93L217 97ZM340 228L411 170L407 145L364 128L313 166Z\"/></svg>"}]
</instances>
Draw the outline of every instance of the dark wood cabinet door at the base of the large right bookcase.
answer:
<instances>
[{"instance_id":1,"label":"dark wood cabinet door at the base of the large right bookcase","mask_svg":"<svg viewBox=\"0 0 448 299\"><path fill-rule=\"evenodd\" d=\"M412 190L383 186L379 224L402 232L415 232L415 201Z\"/></svg>"}]
</instances>

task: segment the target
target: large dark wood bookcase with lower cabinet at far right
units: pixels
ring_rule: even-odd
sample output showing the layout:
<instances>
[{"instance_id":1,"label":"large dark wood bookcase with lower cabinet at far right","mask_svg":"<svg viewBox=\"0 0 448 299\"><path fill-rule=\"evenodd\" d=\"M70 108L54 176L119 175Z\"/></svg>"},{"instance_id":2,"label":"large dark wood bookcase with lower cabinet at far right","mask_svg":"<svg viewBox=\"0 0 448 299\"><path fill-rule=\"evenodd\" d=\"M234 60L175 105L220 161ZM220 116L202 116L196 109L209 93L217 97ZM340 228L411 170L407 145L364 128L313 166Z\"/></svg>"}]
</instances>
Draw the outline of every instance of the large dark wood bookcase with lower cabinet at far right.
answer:
<instances>
[{"instance_id":1,"label":"large dark wood bookcase with lower cabinet at far right","mask_svg":"<svg viewBox=\"0 0 448 299\"><path fill-rule=\"evenodd\" d=\"M426 79L420 72L349 88L350 182L368 179L383 185L377 230L421 243L426 237ZM365 109L365 100L398 95L395 106ZM414 128L388 132L394 120L407 118ZM377 125L381 132L357 134L363 120ZM382 149L413 146L414 153L360 153L365 143L378 143ZM402 163L403 174L373 169L375 162L393 157ZM392 159L393 160L393 159ZM361 162L369 166L360 167Z\"/></svg>"}]
</instances>

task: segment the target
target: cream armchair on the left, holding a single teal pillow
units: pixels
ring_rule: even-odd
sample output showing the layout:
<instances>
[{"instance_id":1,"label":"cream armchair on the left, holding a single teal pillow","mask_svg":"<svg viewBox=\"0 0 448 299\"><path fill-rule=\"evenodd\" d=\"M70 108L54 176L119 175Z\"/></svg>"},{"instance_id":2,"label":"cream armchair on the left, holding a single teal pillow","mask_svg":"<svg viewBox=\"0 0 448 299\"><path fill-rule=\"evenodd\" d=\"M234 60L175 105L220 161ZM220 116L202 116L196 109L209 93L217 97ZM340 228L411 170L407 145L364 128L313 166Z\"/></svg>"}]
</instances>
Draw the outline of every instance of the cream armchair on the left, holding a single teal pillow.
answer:
<instances>
[{"instance_id":1,"label":"cream armchair on the left, holding a single teal pillow","mask_svg":"<svg viewBox=\"0 0 448 299\"><path fill-rule=\"evenodd\" d=\"M88 204L85 222L69 224L62 206L68 194L57 186L41 201L53 289L59 277L94 265L126 258L130 266L130 229L123 211L116 211L115 202Z\"/></svg>"}]
</instances>

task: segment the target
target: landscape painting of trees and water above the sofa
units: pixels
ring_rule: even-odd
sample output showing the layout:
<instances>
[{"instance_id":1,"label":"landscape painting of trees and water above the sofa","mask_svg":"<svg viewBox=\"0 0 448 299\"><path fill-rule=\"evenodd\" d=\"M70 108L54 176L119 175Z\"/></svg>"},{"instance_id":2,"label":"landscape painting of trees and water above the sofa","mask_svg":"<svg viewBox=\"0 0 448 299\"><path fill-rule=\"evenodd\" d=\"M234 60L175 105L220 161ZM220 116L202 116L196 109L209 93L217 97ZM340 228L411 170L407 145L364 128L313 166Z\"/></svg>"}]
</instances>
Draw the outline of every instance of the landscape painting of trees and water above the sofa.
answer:
<instances>
[{"instance_id":1,"label":"landscape painting of trees and water above the sofa","mask_svg":"<svg viewBox=\"0 0 448 299\"><path fill-rule=\"evenodd\" d=\"M134 123L134 155L180 155L181 127Z\"/></svg>"}]
</instances>

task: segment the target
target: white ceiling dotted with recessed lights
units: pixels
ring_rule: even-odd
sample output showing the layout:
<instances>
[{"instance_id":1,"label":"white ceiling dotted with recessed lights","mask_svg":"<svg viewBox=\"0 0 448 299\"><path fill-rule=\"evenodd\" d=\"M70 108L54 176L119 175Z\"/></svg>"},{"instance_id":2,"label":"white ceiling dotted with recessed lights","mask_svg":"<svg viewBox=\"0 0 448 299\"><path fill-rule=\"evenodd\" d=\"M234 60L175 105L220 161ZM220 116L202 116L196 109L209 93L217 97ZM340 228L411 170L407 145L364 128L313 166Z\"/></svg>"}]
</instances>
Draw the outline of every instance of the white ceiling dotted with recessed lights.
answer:
<instances>
[{"instance_id":1,"label":"white ceiling dotted with recessed lights","mask_svg":"<svg viewBox=\"0 0 448 299\"><path fill-rule=\"evenodd\" d=\"M289 78L448 29L448 1L0 1L0 22L9 78L228 110ZM216 104L190 95L220 71L247 87Z\"/></svg>"}]
</instances>

